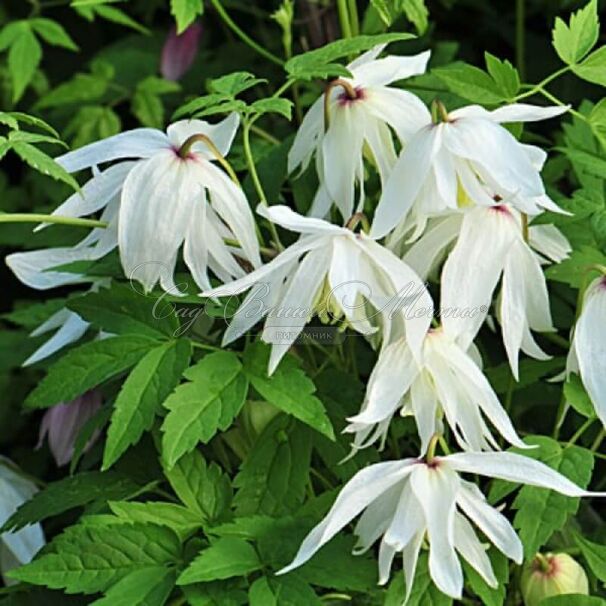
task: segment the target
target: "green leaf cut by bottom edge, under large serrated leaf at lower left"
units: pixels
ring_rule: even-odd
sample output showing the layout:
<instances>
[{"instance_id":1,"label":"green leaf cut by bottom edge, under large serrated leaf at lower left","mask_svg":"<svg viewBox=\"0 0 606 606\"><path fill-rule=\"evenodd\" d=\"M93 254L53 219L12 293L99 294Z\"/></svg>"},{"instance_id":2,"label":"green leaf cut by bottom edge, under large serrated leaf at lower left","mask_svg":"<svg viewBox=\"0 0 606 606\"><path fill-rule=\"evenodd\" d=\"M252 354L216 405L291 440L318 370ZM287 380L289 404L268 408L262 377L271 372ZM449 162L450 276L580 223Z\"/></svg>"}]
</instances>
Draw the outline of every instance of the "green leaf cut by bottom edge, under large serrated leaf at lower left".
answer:
<instances>
[{"instance_id":1,"label":"green leaf cut by bottom edge, under large serrated leaf at lower left","mask_svg":"<svg viewBox=\"0 0 606 606\"><path fill-rule=\"evenodd\" d=\"M175 585L175 573L161 566L127 574L91 606L164 606Z\"/></svg>"}]
</instances>

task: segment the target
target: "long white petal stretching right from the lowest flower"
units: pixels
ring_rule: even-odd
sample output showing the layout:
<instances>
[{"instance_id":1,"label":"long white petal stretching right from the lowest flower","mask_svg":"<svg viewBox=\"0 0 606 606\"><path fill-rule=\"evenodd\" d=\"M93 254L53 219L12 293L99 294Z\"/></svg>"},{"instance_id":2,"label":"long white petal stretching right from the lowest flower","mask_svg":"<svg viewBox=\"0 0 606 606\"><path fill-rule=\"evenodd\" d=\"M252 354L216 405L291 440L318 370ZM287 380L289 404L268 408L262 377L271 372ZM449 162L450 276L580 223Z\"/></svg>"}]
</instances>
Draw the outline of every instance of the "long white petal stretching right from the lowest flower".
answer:
<instances>
[{"instance_id":1,"label":"long white petal stretching right from the lowest flower","mask_svg":"<svg viewBox=\"0 0 606 606\"><path fill-rule=\"evenodd\" d=\"M570 497L606 495L583 490L544 463L512 452L460 452L447 458L453 469L464 473L549 488Z\"/></svg>"}]
</instances>

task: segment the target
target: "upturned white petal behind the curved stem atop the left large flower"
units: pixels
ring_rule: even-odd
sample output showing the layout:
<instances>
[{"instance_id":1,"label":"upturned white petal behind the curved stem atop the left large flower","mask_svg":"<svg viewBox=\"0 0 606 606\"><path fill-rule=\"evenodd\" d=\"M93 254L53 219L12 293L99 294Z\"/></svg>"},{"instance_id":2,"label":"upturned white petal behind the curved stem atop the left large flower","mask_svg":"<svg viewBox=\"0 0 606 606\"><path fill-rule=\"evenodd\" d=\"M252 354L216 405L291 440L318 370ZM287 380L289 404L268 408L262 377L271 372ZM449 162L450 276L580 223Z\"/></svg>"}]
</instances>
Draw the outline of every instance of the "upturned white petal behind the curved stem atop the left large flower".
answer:
<instances>
[{"instance_id":1,"label":"upturned white petal behind the curved stem atop the left large flower","mask_svg":"<svg viewBox=\"0 0 606 606\"><path fill-rule=\"evenodd\" d=\"M214 143L219 153L227 156L239 125L240 116L233 112L217 124L211 124L205 120L179 120L166 129L166 134L176 148L181 147L193 135L206 135ZM194 143L191 150L197 156L207 160L216 159L203 141Z\"/></svg>"}]
</instances>

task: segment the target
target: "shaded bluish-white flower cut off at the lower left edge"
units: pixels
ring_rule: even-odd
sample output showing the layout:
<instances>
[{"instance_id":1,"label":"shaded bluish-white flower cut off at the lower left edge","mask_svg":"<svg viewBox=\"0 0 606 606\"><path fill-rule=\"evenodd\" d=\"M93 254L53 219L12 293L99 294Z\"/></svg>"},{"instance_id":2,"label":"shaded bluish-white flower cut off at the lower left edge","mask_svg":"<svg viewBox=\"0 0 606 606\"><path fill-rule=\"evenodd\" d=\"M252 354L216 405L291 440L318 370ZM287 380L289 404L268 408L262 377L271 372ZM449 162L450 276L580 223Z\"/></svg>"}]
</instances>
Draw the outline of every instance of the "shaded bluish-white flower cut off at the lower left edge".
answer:
<instances>
[{"instance_id":1,"label":"shaded bluish-white flower cut off at the lower left edge","mask_svg":"<svg viewBox=\"0 0 606 606\"><path fill-rule=\"evenodd\" d=\"M25 501L37 492L30 480L17 473L9 459L0 458L0 526L10 518ZM9 570L28 564L44 546L44 534L40 524L30 524L17 531L0 535L0 570ZM5 578L5 582L11 582Z\"/></svg>"}]
</instances>

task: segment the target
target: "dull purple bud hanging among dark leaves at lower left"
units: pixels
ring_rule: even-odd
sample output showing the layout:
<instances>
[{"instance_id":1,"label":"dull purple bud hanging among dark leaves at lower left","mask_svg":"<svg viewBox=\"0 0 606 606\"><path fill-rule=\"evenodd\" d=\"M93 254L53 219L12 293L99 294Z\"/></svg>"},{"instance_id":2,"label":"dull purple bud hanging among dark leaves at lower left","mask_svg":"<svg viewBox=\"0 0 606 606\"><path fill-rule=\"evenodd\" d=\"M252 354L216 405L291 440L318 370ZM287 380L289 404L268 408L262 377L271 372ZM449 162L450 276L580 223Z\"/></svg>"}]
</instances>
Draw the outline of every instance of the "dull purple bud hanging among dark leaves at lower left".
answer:
<instances>
[{"instance_id":1,"label":"dull purple bud hanging among dark leaves at lower left","mask_svg":"<svg viewBox=\"0 0 606 606\"><path fill-rule=\"evenodd\" d=\"M48 436L48 446L57 463L57 467L67 465L74 455L74 445L78 434L87 421L101 408L101 393L95 389L84 395L49 408L40 424L38 448ZM84 451L88 451L99 437L95 432Z\"/></svg>"}]
</instances>

